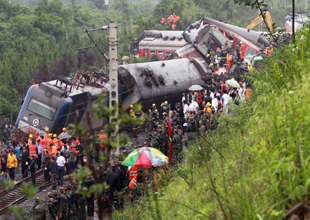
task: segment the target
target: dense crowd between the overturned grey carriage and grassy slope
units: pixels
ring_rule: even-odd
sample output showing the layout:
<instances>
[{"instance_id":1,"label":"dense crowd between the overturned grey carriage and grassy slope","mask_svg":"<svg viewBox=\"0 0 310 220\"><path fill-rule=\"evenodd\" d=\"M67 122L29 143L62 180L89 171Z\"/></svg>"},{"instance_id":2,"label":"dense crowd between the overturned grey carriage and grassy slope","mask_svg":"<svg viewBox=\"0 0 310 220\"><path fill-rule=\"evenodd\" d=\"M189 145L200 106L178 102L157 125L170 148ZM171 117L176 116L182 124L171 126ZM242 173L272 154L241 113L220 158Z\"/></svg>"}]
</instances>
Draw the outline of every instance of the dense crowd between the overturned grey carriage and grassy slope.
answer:
<instances>
[{"instance_id":1,"label":"dense crowd between the overturned grey carriage and grassy slope","mask_svg":"<svg viewBox=\"0 0 310 220\"><path fill-rule=\"evenodd\" d=\"M172 163L178 161L185 132L188 136L185 144L196 141L199 134L216 129L217 118L221 114L231 113L229 105L237 108L241 101L252 94L250 85L246 89L245 82L239 81L239 85L240 88L232 87L219 78L213 78L205 88L183 93L175 106L170 106L167 101L158 107L153 103L149 109L148 125L145 127L145 131L149 133L144 146L159 149L170 157ZM130 115L136 117L134 106L130 107ZM169 149L169 146L172 148Z\"/></svg>"}]
</instances>

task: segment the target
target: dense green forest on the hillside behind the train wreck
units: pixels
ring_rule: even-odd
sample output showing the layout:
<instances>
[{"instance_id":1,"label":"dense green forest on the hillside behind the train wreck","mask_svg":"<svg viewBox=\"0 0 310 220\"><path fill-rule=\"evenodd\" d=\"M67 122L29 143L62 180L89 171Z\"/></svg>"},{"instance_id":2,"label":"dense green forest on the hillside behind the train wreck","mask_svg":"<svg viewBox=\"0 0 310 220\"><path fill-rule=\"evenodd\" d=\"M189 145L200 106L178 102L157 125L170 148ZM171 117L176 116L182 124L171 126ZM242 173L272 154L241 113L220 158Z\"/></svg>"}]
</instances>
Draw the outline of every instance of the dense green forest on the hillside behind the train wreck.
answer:
<instances>
[{"instance_id":1,"label":"dense green forest on the hillside behind the train wreck","mask_svg":"<svg viewBox=\"0 0 310 220\"><path fill-rule=\"evenodd\" d=\"M290 2L268 0L267 3L276 26L283 27L284 17L291 10ZM104 1L99 0L75 1L74 7L71 4L69 0L0 0L0 78L3 82L0 115L19 109L32 79L40 83L93 67L107 70L107 63L97 49L77 50L92 45L82 30L116 20L118 42L123 44L118 48L121 59L130 54L128 44L142 30L171 30L170 25L160 23L161 16L167 18L173 13L180 16L176 29L184 30L203 16L246 27L258 15L257 10L226 0L113 0L107 9ZM296 10L303 8L303 4L304 1L297 0ZM106 33L91 35L100 49L107 52Z\"/></svg>"}]
</instances>

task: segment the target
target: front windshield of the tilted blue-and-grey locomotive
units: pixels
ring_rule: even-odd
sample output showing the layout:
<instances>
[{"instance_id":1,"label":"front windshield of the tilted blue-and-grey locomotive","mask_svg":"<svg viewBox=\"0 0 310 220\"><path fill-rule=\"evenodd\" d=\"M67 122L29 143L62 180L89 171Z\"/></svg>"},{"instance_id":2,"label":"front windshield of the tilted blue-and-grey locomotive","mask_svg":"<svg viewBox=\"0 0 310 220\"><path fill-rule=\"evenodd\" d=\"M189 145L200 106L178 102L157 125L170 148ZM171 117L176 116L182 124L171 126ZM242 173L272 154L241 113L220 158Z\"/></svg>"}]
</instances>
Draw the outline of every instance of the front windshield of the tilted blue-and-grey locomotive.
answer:
<instances>
[{"instance_id":1,"label":"front windshield of the tilted blue-and-grey locomotive","mask_svg":"<svg viewBox=\"0 0 310 220\"><path fill-rule=\"evenodd\" d=\"M40 102L34 98L30 100L27 109L49 120L52 120L54 118L57 110L56 108Z\"/></svg>"}]
</instances>

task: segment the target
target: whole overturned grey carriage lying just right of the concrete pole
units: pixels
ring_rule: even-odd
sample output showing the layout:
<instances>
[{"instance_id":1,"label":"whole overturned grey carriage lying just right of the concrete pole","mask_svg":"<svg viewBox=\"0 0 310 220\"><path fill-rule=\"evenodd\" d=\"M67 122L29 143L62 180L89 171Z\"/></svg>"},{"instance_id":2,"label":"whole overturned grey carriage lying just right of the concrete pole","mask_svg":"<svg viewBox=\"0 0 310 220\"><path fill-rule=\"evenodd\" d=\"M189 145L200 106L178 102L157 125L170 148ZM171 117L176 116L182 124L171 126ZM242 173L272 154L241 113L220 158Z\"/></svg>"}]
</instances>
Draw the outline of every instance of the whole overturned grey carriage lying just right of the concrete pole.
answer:
<instances>
[{"instance_id":1,"label":"whole overturned grey carriage lying just right of the concrete pole","mask_svg":"<svg viewBox=\"0 0 310 220\"><path fill-rule=\"evenodd\" d=\"M212 71L199 58L122 65L118 74L125 89L125 109L140 101L145 108L163 101L181 102L182 92L191 85L204 86L212 78Z\"/></svg>"}]
</instances>

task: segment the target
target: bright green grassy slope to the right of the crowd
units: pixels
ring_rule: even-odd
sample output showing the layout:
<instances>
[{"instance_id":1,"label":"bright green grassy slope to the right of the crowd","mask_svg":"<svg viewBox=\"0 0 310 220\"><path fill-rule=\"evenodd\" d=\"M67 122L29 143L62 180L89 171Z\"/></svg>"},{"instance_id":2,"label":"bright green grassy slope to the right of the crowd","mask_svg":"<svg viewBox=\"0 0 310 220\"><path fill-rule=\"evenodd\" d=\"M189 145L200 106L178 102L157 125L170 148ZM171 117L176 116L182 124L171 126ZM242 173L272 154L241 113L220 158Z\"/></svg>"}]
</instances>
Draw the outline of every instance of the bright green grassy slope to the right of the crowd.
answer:
<instances>
[{"instance_id":1,"label":"bright green grassy slope to the right of the crowd","mask_svg":"<svg viewBox=\"0 0 310 220\"><path fill-rule=\"evenodd\" d=\"M172 182L114 219L280 219L309 201L310 32L251 73L249 101L189 147ZM207 152L210 152L207 156ZM192 178L193 177L193 178ZM189 184L190 183L190 184Z\"/></svg>"}]
</instances>

